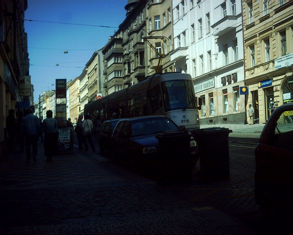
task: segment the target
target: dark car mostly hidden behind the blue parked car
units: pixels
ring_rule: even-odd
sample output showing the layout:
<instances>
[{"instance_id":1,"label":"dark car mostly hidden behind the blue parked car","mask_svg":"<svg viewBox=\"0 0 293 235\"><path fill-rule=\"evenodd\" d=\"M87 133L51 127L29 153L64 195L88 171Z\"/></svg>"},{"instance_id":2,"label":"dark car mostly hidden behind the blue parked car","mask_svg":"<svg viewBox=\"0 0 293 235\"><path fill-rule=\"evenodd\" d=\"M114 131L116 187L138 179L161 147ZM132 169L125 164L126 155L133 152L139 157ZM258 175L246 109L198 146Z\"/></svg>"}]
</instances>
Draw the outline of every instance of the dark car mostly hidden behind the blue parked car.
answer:
<instances>
[{"instance_id":1,"label":"dark car mostly hidden behind the blue parked car","mask_svg":"<svg viewBox=\"0 0 293 235\"><path fill-rule=\"evenodd\" d=\"M113 119L103 122L99 133L99 146L101 154L103 154L105 151L109 151L110 138L117 122L120 120L121 119Z\"/></svg>"}]
</instances>

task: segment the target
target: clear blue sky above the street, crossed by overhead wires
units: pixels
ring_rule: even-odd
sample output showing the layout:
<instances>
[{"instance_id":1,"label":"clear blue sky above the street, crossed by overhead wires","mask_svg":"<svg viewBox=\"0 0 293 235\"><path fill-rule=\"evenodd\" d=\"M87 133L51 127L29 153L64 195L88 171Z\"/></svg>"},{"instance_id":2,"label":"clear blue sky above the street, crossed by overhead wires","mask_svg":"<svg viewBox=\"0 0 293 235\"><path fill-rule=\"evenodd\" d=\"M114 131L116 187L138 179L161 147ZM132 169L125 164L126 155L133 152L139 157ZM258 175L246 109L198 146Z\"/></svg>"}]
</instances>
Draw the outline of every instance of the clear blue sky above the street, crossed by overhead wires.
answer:
<instances>
[{"instance_id":1,"label":"clear blue sky above the street, crossed by overhead wires","mask_svg":"<svg viewBox=\"0 0 293 235\"><path fill-rule=\"evenodd\" d=\"M127 0L28 0L24 25L35 102L42 92L55 89L56 79L69 81L82 73L124 21L126 4Z\"/></svg>"}]
</instances>

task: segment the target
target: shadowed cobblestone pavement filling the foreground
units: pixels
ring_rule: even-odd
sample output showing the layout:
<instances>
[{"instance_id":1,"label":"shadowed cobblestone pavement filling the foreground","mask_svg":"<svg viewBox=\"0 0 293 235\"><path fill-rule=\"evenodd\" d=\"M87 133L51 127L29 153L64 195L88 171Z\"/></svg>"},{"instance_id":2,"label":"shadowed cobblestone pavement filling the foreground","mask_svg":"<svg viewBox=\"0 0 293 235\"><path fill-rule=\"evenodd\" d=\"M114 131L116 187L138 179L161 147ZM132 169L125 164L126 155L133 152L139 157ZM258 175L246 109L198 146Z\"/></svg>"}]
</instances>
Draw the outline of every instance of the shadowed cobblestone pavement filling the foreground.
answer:
<instances>
[{"instance_id":1,"label":"shadowed cobblestone pavement filling the foreground","mask_svg":"<svg viewBox=\"0 0 293 235\"><path fill-rule=\"evenodd\" d=\"M229 180L200 181L198 162L193 182L157 183L90 151L49 163L41 143L38 151L37 162L1 158L1 234L268 233L253 158L230 156Z\"/></svg>"}]
</instances>

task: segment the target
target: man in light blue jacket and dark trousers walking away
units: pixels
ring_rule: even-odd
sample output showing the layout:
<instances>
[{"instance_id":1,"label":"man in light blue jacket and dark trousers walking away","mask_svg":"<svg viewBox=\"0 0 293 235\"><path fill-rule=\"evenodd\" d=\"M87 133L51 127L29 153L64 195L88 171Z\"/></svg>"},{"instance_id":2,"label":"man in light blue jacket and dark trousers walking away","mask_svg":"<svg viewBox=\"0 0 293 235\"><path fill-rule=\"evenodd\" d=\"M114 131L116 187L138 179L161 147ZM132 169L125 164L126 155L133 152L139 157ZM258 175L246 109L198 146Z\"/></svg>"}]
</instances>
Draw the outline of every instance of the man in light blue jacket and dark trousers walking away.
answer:
<instances>
[{"instance_id":1,"label":"man in light blue jacket and dark trousers walking away","mask_svg":"<svg viewBox=\"0 0 293 235\"><path fill-rule=\"evenodd\" d=\"M31 108L27 108L27 115L23 117L21 122L21 134L24 135L25 140L25 156L26 161L30 162L31 152L30 145L33 147L32 155L33 161L37 161L37 153L38 153L38 134L41 132L41 126L39 118L33 115L33 110Z\"/></svg>"}]
</instances>

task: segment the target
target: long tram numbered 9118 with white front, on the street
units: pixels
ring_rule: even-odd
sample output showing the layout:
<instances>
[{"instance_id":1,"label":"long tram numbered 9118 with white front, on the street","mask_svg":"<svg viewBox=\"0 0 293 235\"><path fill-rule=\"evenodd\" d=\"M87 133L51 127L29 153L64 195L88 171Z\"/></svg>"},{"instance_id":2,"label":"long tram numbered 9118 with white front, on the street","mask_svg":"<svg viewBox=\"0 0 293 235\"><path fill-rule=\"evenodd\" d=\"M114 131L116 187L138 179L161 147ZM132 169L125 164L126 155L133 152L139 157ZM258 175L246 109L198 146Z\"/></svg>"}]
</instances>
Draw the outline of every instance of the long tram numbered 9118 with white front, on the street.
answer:
<instances>
[{"instance_id":1,"label":"long tram numbered 9118 with white front, on the street","mask_svg":"<svg viewBox=\"0 0 293 235\"><path fill-rule=\"evenodd\" d=\"M200 101L199 101L200 102ZM165 115L187 130L200 128L193 81L186 73L156 73L137 84L90 101L84 114L91 115L94 130L98 119Z\"/></svg>"}]
</instances>

